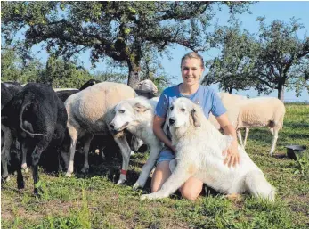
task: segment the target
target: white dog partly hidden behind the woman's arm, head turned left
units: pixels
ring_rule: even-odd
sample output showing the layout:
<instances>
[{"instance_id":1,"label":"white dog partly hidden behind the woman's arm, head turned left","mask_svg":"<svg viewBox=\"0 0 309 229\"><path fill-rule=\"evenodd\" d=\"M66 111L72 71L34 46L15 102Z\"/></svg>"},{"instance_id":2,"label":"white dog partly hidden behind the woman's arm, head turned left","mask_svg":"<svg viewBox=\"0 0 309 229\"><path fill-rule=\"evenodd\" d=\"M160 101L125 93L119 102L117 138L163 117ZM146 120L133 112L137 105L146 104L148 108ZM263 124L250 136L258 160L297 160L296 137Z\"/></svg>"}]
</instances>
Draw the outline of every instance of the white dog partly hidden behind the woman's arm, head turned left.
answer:
<instances>
[{"instance_id":1,"label":"white dog partly hidden behind the woman's arm, head turned left","mask_svg":"<svg viewBox=\"0 0 309 229\"><path fill-rule=\"evenodd\" d=\"M155 103L141 96L123 100L115 107L116 114L110 123L116 131L121 131L126 128L150 146L149 159L147 159L146 164L142 167L142 173L134 184L134 189L145 185L150 171L163 147L162 143L152 131L154 106Z\"/></svg>"}]
</instances>

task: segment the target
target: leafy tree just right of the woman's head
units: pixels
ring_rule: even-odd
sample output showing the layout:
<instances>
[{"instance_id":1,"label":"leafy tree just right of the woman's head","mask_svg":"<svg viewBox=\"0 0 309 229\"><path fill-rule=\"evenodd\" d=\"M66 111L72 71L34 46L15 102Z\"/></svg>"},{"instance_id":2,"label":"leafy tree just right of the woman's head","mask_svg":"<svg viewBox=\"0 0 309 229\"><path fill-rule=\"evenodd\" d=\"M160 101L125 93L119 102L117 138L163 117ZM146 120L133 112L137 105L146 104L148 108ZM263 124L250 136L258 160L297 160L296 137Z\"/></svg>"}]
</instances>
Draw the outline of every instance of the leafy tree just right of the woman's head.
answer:
<instances>
[{"instance_id":1,"label":"leafy tree just right of the woman's head","mask_svg":"<svg viewBox=\"0 0 309 229\"><path fill-rule=\"evenodd\" d=\"M236 22L230 28L220 28L221 55L206 61L207 74L203 85L219 83L219 88L232 94L232 90L249 90L256 86L250 78L256 58L256 43L248 31L241 31Z\"/></svg>"}]
</instances>

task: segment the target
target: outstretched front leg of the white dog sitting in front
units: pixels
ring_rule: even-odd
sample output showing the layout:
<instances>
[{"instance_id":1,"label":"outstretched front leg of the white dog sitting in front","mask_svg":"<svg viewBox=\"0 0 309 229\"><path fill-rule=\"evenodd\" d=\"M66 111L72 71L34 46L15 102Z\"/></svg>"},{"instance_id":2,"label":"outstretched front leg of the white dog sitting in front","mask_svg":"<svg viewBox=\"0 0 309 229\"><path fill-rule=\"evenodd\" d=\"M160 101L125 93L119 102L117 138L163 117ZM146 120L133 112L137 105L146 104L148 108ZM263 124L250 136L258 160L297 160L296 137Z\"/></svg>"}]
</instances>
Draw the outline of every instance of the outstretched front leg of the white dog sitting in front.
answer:
<instances>
[{"instance_id":1,"label":"outstretched front leg of the white dog sitting in front","mask_svg":"<svg viewBox=\"0 0 309 229\"><path fill-rule=\"evenodd\" d=\"M171 176L168 177L165 184L158 192L153 192L151 194L146 194L141 196L141 200L149 199L162 199L167 198L170 194L174 193L179 189L184 182L186 182L195 173L195 168L193 164L177 163L177 166Z\"/></svg>"}]
</instances>

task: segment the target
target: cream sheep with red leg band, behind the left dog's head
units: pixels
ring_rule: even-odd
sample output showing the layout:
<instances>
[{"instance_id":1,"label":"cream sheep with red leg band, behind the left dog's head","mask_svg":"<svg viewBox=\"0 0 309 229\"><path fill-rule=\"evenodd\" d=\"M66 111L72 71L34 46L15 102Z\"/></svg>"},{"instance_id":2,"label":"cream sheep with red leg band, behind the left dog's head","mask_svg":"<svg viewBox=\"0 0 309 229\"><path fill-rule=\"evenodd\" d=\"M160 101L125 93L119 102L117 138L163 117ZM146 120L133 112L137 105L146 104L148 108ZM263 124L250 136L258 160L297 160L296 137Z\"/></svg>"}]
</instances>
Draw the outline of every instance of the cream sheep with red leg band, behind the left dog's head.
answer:
<instances>
[{"instance_id":1,"label":"cream sheep with red leg band, behind the left dog's head","mask_svg":"<svg viewBox=\"0 0 309 229\"><path fill-rule=\"evenodd\" d=\"M113 119L114 106L121 100L134 98L134 89L119 83L102 82L90 86L77 94L72 94L65 102L68 112L68 131L70 137L69 168L66 176L71 176L74 168L74 154L79 137L84 136L85 161L82 169L85 172L89 168L88 151L94 135L113 135L121 150L123 157L121 174L118 184L126 182L126 170L128 168L130 147L126 142L123 131L115 132L110 127Z\"/></svg>"}]
</instances>

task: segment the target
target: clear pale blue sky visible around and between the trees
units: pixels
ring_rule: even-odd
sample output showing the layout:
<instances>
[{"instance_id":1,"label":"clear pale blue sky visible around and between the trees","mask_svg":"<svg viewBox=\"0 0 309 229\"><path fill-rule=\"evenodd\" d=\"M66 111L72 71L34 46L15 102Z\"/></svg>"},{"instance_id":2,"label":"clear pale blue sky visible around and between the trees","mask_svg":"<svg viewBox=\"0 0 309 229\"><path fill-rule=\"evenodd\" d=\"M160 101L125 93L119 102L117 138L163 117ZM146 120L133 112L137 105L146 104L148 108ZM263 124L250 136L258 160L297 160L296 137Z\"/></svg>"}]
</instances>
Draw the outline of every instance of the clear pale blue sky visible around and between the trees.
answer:
<instances>
[{"instance_id":1,"label":"clear pale blue sky visible around and between the trees","mask_svg":"<svg viewBox=\"0 0 309 229\"><path fill-rule=\"evenodd\" d=\"M256 21L256 18L259 16L265 16L266 24L269 24L272 20L284 20L289 22L290 18L295 17L305 26L305 29L300 30L299 35L303 37L305 33L307 35L309 34L309 2L258 2L250 6L250 11L252 12L251 14L246 12L237 16L241 22L241 28L247 29L250 33L256 33L258 31L258 22ZM229 13L225 8L223 11L217 12L215 15L215 19L219 20L219 25L226 25L228 18ZM38 47L34 48L35 52L38 50ZM169 48L169 51L172 53L172 60L169 60L167 56L163 56L161 64L167 74L176 76L172 81L173 85L175 85L182 82L180 61L183 55L190 52L190 50L183 48L181 45L175 45L173 49ZM200 54L203 56L204 61L207 61L217 56L219 54L219 50L210 50ZM47 60L47 54L45 52L37 53L37 58L45 62ZM91 72L109 70L109 66L105 62L97 63L97 67L92 69L89 61L89 52L82 53L78 59L83 62L85 69L90 70ZM211 87L214 88L216 92L219 91L217 85L212 85ZM235 93L246 96L248 95L249 97L257 96L257 92L253 89L248 91L234 90L232 94ZM272 94L261 94L261 96L277 97L277 94L277 90L274 90ZM286 102L309 102L309 94L305 90L299 97L296 97L294 91L285 91L284 96L284 100Z\"/></svg>"}]
</instances>

